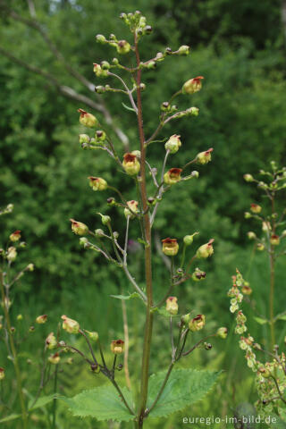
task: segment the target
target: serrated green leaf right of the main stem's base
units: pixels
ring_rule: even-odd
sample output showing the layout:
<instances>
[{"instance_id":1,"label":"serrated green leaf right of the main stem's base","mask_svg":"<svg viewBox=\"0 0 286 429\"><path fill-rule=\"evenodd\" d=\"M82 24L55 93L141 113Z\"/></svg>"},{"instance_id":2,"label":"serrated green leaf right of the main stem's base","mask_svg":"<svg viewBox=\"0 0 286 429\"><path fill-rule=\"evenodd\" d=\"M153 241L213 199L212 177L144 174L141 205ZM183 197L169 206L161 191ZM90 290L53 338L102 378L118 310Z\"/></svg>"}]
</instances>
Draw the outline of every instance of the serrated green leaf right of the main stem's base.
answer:
<instances>
[{"instance_id":1,"label":"serrated green leaf right of the main stem's base","mask_svg":"<svg viewBox=\"0 0 286 429\"><path fill-rule=\"evenodd\" d=\"M164 382L166 372L153 374L149 379L147 408L150 408ZM195 369L173 370L150 417L164 417L201 400L214 385L220 372Z\"/></svg>"}]
</instances>

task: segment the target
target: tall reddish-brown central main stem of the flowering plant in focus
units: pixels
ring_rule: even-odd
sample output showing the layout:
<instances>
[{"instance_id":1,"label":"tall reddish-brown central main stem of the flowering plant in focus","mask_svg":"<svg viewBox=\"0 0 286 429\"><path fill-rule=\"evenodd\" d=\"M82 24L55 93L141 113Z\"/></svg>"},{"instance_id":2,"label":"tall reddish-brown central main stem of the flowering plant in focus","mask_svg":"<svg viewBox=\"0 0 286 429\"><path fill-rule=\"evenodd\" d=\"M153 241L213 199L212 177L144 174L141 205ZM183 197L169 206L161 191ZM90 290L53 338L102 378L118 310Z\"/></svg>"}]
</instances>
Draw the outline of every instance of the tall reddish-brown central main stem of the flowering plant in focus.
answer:
<instances>
[{"instance_id":1,"label":"tall reddish-brown central main stem of the flowering plant in focus","mask_svg":"<svg viewBox=\"0 0 286 429\"><path fill-rule=\"evenodd\" d=\"M145 246L145 278L146 278L146 290L147 290L147 308L146 308L146 323L144 333L144 345L143 345L143 357L142 357L142 373L141 373L141 387L140 387L140 400L139 410L137 415L139 429L143 427L143 419L145 416L145 408L147 404L147 389L148 389L148 376L149 376L149 364L150 364L150 350L151 350L151 339L153 331L153 313L151 308L153 306L153 293L152 293L152 249L151 249L151 225L149 214L147 213L147 189L146 189L146 147L144 129L143 129L143 116L142 116L142 103L141 103L141 71L139 70L140 57L138 40L136 33L134 34L135 44L135 55L138 66L137 71L137 106L138 106L138 127L139 127L139 139L140 139L140 192L141 200L144 211L144 231L147 244Z\"/></svg>"}]
</instances>

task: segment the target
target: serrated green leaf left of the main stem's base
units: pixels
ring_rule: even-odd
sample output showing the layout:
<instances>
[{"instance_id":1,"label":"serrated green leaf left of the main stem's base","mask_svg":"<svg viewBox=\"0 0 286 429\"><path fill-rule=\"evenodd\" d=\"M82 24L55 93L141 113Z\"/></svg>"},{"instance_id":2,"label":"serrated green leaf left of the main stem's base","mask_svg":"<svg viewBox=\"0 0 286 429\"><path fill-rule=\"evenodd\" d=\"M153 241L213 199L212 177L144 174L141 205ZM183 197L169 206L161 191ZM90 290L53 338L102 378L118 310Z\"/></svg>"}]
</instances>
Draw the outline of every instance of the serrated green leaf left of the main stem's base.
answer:
<instances>
[{"instance_id":1,"label":"serrated green leaf left of the main stem's base","mask_svg":"<svg viewBox=\"0 0 286 429\"><path fill-rule=\"evenodd\" d=\"M132 404L130 391L125 387L122 393L128 404ZM114 386L100 386L89 391L81 391L73 398L60 397L69 406L73 416L96 417L97 420L128 422L134 418L124 406Z\"/></svg>"}]
</instances>

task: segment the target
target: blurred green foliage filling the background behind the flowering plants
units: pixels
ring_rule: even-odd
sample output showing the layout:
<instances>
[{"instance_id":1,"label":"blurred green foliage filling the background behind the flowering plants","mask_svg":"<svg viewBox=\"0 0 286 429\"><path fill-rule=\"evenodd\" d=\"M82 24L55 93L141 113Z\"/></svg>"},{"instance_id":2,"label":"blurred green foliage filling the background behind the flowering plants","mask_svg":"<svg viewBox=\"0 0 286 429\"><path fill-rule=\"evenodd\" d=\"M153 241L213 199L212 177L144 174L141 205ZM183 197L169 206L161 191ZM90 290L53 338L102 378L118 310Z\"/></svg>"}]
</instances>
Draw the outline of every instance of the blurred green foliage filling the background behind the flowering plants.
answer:
<instances>
[{"instance_id":1,"label":"blurred green foliage filling the background behind the flowering plants","mask_svg":"<svg viewBox=\"0 0 286 429\"><path fill-rule=\"evenodd\" d=\"M29 19L26 2L12 0L8 3ZM256 293L257 307L260 313L266 314L266 257L259 255L254 261L250 259L246 231L252 226L243 223L243 213L250 202L257 200L257 192L244 183L242 175L256 174L272 159L285 164L285 50L280 2L139 0L135 4L128 0L36 0L35 4L38 20L65 59L96 85L102 82L95 77L92 63L111 60L114 51L97 45L95 35L107 36L113 32L120 38L128 38L122 21L115 19L120 12L139 9L147 14L147 20L154 27L152 35L142 42L145 59L165 46L173 49L181 44L191 46L189 57L167 58L158 65L158 70L143 74L147 84L143 95L146 133L149 135L156 128L160 104L181 88L185 80L203 75L203 89L198 95L178 99L180 107L189 107L190 103L198 106L198 118L171 122L160 139L173 133L181 134L182 147L177 155L170 156L170 168L185 164L209 147L214 147L214 156L211 164L198 167L198 181L180 184L165 196L156 219L156 234L159 239L167 236L181 239L186 233L200 231L197 244L214 237L214 259L200 266L206 269L206 282L195 286L189 282L178 290L181 306L186 311L191 308L206 313L209 329L222 324L231 328L225 295L236 266L245 277L248 275ZM0 34L0 46L9 53L49 71L62 85L95 97L55 60L35 29L3 13ZM111 214L114 230L122 236L123 214L105 205L105 198L112 195L93 192L88 187L87 177L103 176L131 199L136 196L130 191L130 178L118 172L100 151L90 154L80 149L77 136L83 128L78 122L77 108L85 108L85 105L64 98L48 80L4 55L0 55L0 87L1 206L15 205L13 215L0 221L1 242L7 240L12 231L20 229L29 243L26 257L29 254L30 261L36 265L29 280L21 281L14 314L21 312L33 320L45 312L51 315L51 326L52 322L55 326L59 316L68 313L80 318L87 329L97 329L108 341L114 335L120 336L123 333L119 332L122 329L121 303L108 296L122 290L126 293L130 286L118 269L106 265L97 254L79 247L78 240L71 235L69 218L95 229L101 227L96 212ZM122 107L122 101L126 100L118 94L103 97L114 122L128 135L130 149L138 148L136 121L133 114ZM96 114L103 119L101 114ZM122 156L122 143L112 134L114 146ZM160 169L163 157L164 143L150 147L150 164ZM131 229L130 238L138 238L135 227ZM132 271L142 274L140 253L134 254L132 259ZM155 295L159 297L167 282L159 255L154 260L154 272ZM277 294L282 293L282 266L278 266L278 279ZM130 306L130 336L136 338L140 336L143 323L140 304L132 300L127 306ZM282 302L277 303L276 310L283 309ZM267 340L266 328L252 326L251 322L249 326L254 335ZM282 323L280 327L282 341L285 330ZM53 329L55 327L50 331ZM168 362L168 346L164 339L167 329L164 321L156 326L154 357L159 358L154 359L154 365L158 367ZM39 341L40 338L41 335L35 333L35 339ZM224 346L216 341L212 351L196 352L189 358L194 366L227 369L223 375L225 391L217 385L210 399L196 406L192 413L231 413L241 400L253 399L251 374L244 367L242 352L231 336ZM130 352L134 352L135 361L140 355L140 341L131 344ZM94 385L94 377L87 375L83 367L78 366L75 371L73 383L65 374L63 386L69 392L76 393L82 387ZM84 378L80 371L85 374ZM248 398L246 391L249 391ZM218 399L220 395L223 399ZM60 427L78 427L76 419L67 423L64 416L65 408ZM164 426L155 423L148 427L176 428L178 418L168 419ZM87 422L80 427L93 426Z\"/></svg>"}]
</instances>

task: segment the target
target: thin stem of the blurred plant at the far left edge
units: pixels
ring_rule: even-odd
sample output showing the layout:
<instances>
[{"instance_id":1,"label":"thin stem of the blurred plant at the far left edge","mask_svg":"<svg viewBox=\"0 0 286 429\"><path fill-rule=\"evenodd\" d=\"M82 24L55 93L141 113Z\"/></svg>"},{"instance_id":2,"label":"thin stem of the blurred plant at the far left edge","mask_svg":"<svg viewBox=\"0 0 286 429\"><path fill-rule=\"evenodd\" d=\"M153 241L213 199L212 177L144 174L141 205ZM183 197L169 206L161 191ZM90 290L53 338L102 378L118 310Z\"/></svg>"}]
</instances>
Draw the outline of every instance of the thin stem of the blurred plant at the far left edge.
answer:
<instances>
[{"instance_id":1,"label":"thin stem of the blurred plant at the far left edge","mask_svg":"<svg viewBox=\"0 0 286 429\"><path fill-rule=\"evenodd\" d=\"M27 429L27 427L28 427L27 426L28 425L28 416L27 416L27 411L26 411L24 395L23 395L22 388L21 388L21 371L20 371L20 367L18 364L17 351L16 351L15 344L13 341L13 334L11 333L10 315L9 315L9 311L8 311L8 308L7 308L6 303L5 303L4 276L3 276L2 270L0 270L0 283L1 283L1 293L2 293L2 301L3 301L3 307L4 307L4 316L5 316L5 321L7 324L7 332L8 332L9 342L10 342L10 348L11 348L12 355L13 355L13 366L15 368L16 380L17 380L17 389L18 389L18 395L19 395L19 400L20 400L20 405L21 405L21 419L22 419L22 424L23 424L22 429Z\"/></svg>"}]
</instances>

